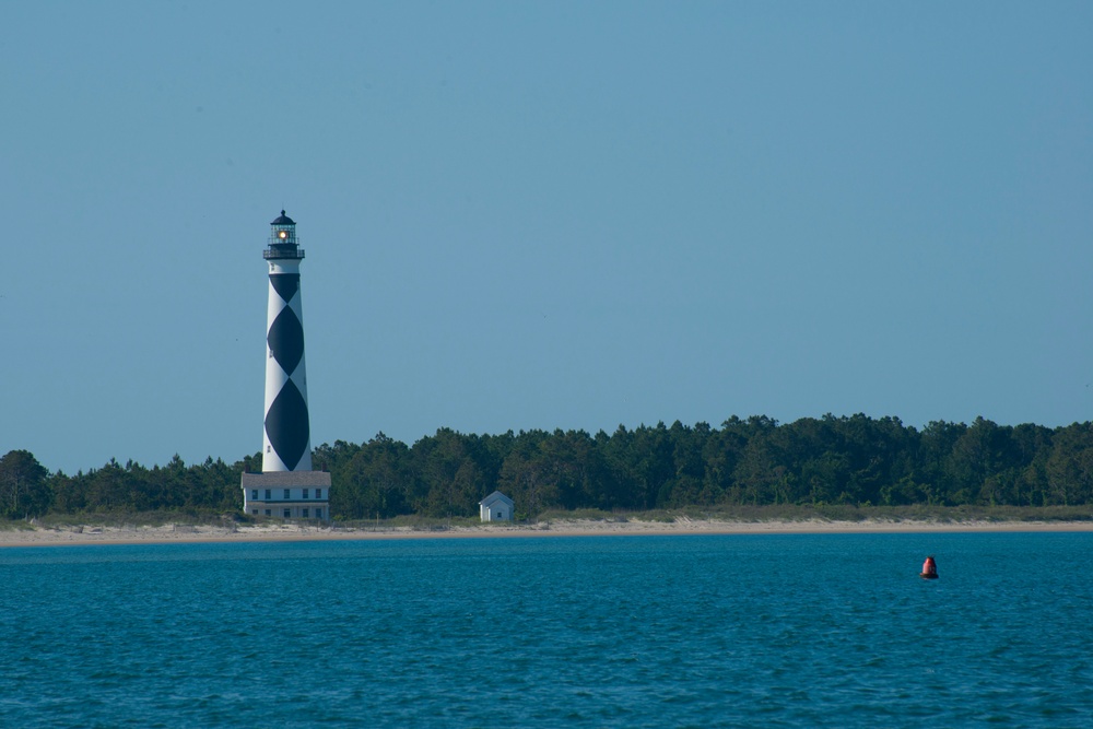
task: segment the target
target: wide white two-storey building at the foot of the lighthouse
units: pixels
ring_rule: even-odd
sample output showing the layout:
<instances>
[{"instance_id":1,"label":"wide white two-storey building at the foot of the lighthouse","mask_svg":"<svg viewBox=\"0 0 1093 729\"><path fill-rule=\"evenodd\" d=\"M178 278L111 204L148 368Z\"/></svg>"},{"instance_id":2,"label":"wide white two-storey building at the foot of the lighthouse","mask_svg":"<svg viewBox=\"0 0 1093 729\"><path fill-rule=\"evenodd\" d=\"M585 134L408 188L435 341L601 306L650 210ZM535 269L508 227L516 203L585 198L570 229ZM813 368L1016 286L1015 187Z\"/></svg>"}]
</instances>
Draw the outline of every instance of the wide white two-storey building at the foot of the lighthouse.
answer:
<instances>
[{"instance_id":1,"label":"wide white two-storey building at the foot of the lighthouse","mask_svg":"<svg viewBox=\"0 0 1093 729\"><path fill-rule=\"evenodd\" d=\"M330 520L330 473L270 471L243 474L243 512L279 519Z\"/></svg>"}]
</instances>

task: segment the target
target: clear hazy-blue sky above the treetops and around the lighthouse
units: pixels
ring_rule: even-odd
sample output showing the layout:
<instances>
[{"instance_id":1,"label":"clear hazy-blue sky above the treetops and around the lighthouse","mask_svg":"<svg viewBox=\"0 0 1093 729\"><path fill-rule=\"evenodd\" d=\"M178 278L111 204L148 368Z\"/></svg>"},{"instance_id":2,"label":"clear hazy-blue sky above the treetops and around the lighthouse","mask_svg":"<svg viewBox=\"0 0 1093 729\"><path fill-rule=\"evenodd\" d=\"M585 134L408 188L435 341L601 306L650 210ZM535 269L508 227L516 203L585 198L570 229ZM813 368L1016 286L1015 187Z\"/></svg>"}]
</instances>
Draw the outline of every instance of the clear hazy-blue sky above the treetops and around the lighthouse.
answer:
<instances>
[{"instance_id":1,"label":"clear hazy-blue sky above the treetops and around the lighthouse","mask_svg":"<svg viewBox=\"0 0 1093 729\"><path fill-rule=\"evenodd\" d=\"M0 455L1093 413L1093 3L8 2Z\"/></svg>"}]
</instances>

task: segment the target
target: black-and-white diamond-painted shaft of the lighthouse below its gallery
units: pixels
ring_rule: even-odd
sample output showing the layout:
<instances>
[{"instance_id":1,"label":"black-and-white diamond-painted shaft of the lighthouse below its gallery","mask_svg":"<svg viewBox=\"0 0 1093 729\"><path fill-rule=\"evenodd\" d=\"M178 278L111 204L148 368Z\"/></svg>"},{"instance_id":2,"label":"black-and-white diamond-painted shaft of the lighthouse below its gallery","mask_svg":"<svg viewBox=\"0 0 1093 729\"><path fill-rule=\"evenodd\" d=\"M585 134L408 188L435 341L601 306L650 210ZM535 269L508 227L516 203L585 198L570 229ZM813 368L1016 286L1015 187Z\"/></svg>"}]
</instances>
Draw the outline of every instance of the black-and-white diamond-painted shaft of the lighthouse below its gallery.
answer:
<instances>
[{"instance_id":1,"label":"black-and-white diamond-painted shaft of the lighthouse below its gallery","mask_svg":"<svg viewBox=\"0 0 1093 729\"><path fill-rule=\"evenodd\" d=\"M299 273L271 272L263 471L312 470Z\"/></svg>"}]
</instances>

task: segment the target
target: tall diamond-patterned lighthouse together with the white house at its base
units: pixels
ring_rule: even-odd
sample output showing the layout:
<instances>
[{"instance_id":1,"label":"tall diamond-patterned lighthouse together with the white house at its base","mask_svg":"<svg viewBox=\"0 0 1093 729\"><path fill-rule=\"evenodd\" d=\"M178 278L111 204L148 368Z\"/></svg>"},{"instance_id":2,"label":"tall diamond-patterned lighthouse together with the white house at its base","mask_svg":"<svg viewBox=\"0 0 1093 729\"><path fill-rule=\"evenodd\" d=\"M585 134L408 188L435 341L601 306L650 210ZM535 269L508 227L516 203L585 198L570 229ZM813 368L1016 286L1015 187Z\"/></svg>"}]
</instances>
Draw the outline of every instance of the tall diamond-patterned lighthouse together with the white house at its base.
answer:
<instances>
[{"instance_id":1,"label":"tall diamond-patterned lighthouse together with the white house at its base","mask_svg":"<svg viewBox=\"0 0 1093 729\"><path fill-rule=\"evenodd\" d=\"M282 210L262 251L269 266L266 318L266 418L262 472L243 474L251 516L329 519L330 474L312 470L312 428L304 367L304 313L296 222Z\"/></svg>"}]
</instances>

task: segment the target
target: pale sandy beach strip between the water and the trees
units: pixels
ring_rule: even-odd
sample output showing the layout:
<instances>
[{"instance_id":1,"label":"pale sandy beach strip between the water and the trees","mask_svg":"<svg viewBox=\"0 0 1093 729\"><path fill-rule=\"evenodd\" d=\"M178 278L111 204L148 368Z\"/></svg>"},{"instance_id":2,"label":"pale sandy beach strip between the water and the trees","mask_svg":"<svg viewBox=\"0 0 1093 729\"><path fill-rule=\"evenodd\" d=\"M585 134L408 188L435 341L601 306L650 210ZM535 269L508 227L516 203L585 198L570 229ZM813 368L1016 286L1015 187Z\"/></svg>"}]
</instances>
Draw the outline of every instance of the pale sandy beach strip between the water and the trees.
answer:
<instances>
[{"instance_id":1,"label":"pale sandy beach strip between the water and the trees","mask_svg":"<svg viewBox=\"0 0 1093 729\"><path fill-rule=\"evenodd\" d=\"M238 528L168 525L164 527L71 527L7 529L3 546L87 544L171 544L202 542L299 542L381 539L468 539L484 537L599 537L636 534L816 534L1093 531L1090 521L665 521L565 520L550 525L482 525L444 530L319 528L295 524Z\"/></svg>"}]
</instances>

